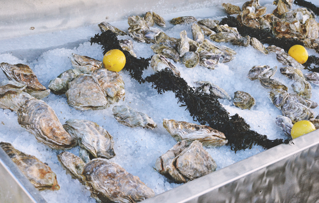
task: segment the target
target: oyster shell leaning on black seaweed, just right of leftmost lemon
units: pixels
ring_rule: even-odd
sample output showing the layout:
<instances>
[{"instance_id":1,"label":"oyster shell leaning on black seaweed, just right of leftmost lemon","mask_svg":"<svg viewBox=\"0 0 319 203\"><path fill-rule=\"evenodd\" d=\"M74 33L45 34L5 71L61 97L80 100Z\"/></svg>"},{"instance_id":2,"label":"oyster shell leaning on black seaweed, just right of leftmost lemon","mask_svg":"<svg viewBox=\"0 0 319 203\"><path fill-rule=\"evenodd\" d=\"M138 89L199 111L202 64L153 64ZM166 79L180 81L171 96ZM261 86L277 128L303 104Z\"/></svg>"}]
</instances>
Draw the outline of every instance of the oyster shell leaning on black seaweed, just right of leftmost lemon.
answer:
<instances>
[{"instance_id":1,"label":"oyster shell leaning on black seaweed, just right of leftmost lemon","mask_svg":"<svg viewBox=\"0 0 319 203\"><path fill-rule=\"evenodd\" d=\"M165 68L169 68L176 76L180 76L178 69L165 57L159 54L155 54L152 57L151 67L155 72L158 72Z\"/></svg>"}]
</instances>

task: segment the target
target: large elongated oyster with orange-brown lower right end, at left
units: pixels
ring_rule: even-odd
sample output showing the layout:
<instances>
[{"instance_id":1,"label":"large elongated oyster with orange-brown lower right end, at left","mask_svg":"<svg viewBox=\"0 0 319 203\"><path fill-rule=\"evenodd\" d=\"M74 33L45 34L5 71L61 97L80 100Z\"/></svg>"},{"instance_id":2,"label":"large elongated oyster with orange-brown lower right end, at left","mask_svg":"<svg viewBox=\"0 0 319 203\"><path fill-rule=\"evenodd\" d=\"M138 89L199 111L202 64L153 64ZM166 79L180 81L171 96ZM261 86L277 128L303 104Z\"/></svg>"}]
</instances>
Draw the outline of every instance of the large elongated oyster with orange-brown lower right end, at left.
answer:
<instances>
[{"instance_id":1,"label":"large elongated oyster with orange-brown lower right end, at left","mask_svg":"<svg viewBox=\"0 0 319 203\"><path fill-rule=\"evenodd\" d=\"M31 98L17 111L18 123L52 149L68 149L76 140L64 129L54 110L45 102Z\"/></svg>"}]
</instances>

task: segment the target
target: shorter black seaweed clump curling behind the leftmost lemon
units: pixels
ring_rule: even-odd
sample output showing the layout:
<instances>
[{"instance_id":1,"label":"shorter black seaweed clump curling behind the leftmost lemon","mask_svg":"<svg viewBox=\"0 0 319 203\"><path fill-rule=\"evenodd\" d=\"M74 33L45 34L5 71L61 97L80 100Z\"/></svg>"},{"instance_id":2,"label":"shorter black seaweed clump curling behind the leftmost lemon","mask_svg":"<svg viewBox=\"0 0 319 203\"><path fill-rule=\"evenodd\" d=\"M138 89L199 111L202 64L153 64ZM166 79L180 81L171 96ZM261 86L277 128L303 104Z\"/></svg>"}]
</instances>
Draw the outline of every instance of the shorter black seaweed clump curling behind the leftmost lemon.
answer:
<instances>
[{"instance_id":1,"label":"shorter black seaweed clump curling behind the leftmost lemon","mask_svg":"<svg viewBox=\"0 0 319 203\"><path fill-rule=\"evenodd\" d=\"M112 50L112 49L119 49L121 50L126 58L126 63L124 66L124 70L130 72L130 76L137 80L140 84L145 83L145 80L142 78L143 71L148 68L149 61L151 58L136 58L130 54L128 51L124 51L120 46L120 42L117 38L117 35L113 33L111 30L107 30L103 32L101 35L96 34L90 40L91 45L93 43L101 44L103 49L103 54Z\"/></svg>"}]
</instances>

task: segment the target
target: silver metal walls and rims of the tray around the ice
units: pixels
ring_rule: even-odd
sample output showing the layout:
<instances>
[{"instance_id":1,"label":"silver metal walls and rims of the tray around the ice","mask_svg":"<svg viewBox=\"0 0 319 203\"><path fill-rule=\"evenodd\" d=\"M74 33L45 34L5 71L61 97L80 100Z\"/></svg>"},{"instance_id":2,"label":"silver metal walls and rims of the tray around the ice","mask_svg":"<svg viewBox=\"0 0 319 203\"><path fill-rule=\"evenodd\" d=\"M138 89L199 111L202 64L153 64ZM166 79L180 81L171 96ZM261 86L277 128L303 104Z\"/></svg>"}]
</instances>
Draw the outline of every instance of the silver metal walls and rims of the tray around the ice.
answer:
<instances>
[{"instance_id":1,"label":"silver metal walls and rims of the tray around the ice","mask_svg":"<svg viewBox=\"0 0 319 203\"><path fill-rule=\"evenodd\" d=\"M0 40L67 30L148 10L163 14L220 5L221 0L3 1ZM228 0L227 2L243 2ZM14 9L13 9L14 8ZM49 13L49 14L48 14ZM94 14L92 14L94 13ZM34 29L35 27L35 29ZM63 39L61 39L63 41ZM78 42L77 42L78 43ZM68 45L72 47L72 44ZM36 52L37 50L35 50ZM61 112L62 113L62 112ZM198 178L143 203L313 203L319 200L319 131ZM45 203L0 148L0 202Z\"/></svg>"}]
</instances>

